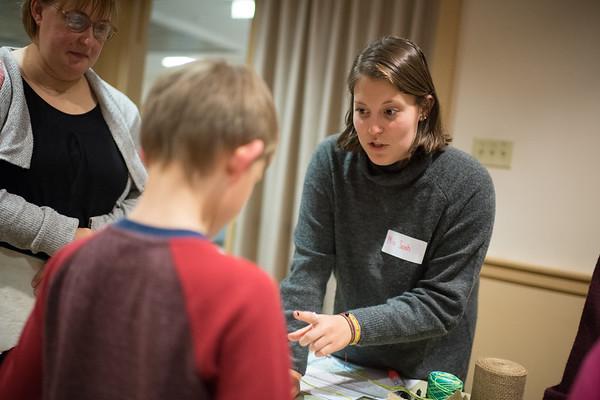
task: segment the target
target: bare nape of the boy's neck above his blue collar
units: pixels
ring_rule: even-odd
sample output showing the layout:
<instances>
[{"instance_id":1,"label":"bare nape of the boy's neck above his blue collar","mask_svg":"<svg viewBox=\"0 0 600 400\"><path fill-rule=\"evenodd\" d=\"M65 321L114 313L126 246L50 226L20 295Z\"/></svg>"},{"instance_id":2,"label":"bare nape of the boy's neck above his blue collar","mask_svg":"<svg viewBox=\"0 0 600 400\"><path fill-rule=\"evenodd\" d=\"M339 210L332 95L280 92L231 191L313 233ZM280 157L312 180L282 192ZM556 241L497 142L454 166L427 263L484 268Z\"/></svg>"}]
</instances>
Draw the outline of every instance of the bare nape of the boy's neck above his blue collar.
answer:
<instances>
[{"instance_id":1,"label":"bare nape of the boy's neck above his blue collar","mask_svg":"<svg viewBox=\"0 0 600 400\"><path fill-rule=\"evenodd\" d=\"M203 210L211 208L214 178L208 177L206 188L194 189L185 179L181 168L148 168L148 181L139 202L129 219L160 228L187 229L211 235L211 217Z\"/></svg>"}]
</instances>

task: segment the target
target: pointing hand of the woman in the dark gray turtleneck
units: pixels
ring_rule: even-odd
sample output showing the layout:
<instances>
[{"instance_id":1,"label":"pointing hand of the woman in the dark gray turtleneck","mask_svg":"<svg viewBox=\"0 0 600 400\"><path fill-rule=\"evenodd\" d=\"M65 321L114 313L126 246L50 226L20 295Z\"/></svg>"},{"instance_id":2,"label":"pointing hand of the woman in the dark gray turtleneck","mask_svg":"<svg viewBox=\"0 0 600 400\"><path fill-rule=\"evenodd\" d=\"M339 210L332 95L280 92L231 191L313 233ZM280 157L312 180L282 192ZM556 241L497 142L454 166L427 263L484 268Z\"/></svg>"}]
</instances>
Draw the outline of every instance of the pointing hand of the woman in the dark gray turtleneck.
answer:
<instances>
[{"instance_id":1,"label":"pointing hand of the woman in the dark gray turtleneck","mask_svg":"<svg viewBox=\"0 0 600 400\"><path fill-rule=\"evenodd\" d=\"M294 311L294 318L309 325L290 332L288 339L298 342L323 357L348 346L352 332L348 321L341 315L317 314L310 311Z\"/></svg>"}]
</instances>

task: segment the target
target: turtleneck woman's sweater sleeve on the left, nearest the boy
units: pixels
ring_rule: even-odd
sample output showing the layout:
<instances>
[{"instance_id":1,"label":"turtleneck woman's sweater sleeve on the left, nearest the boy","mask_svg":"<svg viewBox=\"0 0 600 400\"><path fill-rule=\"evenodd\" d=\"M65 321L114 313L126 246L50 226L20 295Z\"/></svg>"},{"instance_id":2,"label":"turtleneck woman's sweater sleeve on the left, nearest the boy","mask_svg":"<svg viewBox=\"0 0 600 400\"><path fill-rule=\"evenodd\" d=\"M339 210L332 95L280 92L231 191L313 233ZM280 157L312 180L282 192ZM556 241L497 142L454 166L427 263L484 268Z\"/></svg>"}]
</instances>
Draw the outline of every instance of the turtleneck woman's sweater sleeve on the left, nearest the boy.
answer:
<instances>
[{"instance_id":1,"label":"turtleneck woman's sweater sleeve on the left, nearest the boy","mask_svg":"<svg viewBox=\"0 0 600 400\"><path fill-rule=\"evenodd\" d=\"M326 147L311 159L306 177L298 223L294 232L295 251L291 271L281 282L281 296L288 332L306 324L294 319L294 310L322 312L327 281L335 264L333 200ZM291 344L293 368L304 374L308 349Z\"/></svg>"}]
</instances>

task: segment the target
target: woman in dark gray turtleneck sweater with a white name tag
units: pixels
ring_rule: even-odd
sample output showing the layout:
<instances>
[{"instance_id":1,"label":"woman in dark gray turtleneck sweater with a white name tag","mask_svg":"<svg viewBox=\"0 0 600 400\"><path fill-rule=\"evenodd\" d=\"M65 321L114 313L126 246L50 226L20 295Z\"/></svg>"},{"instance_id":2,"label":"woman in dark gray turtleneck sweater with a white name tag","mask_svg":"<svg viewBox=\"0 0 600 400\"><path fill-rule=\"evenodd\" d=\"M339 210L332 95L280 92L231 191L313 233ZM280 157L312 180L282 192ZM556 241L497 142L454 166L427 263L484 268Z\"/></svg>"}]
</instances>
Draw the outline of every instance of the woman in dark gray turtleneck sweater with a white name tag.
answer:
<instances>
[{"instance_id":1,"label":"woman in dark gray turtleneck sweater with a white name tag","mask_svg":"<svg viewBox=\"0 0 600 400\"><path fill-rule=\"evenodd\" d=\"M292 376L297 385L311 350L404 378L443 370L464 380L494 221L492 181L448 146L414 43L371 43L348 88L345 130L321 143L308 167L281 284ZM319 314L332 273L335 314Z\"/></svg>"}]
</instances>

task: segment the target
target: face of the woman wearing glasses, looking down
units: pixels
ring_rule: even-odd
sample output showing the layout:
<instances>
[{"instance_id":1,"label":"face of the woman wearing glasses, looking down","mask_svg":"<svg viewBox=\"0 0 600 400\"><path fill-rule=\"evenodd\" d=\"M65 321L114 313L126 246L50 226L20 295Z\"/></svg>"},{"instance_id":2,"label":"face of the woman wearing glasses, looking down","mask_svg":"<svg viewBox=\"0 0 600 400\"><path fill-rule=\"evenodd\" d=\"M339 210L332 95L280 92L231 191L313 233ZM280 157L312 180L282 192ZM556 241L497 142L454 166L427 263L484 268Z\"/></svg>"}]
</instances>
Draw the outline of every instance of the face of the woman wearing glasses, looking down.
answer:
<instances>
[{"instance_id":1,"label":"face of the woman wearing glasses, looking down","mask_svg":"<svg viewBox=\"0 0 600 400\"><path fill-rule=\"evenodd\" d=\"M64 13L74 11L68 1L62 6L61 2L51 5L33 3L32 13L38 24L36 43L43 62L59 79L79 79L98 60L104 41L94 36L93 25L79 33L67 26ZM89 16L90 10L76 11L85 14L92 23L99 21Z\"/></svg>"}]
</instances>

